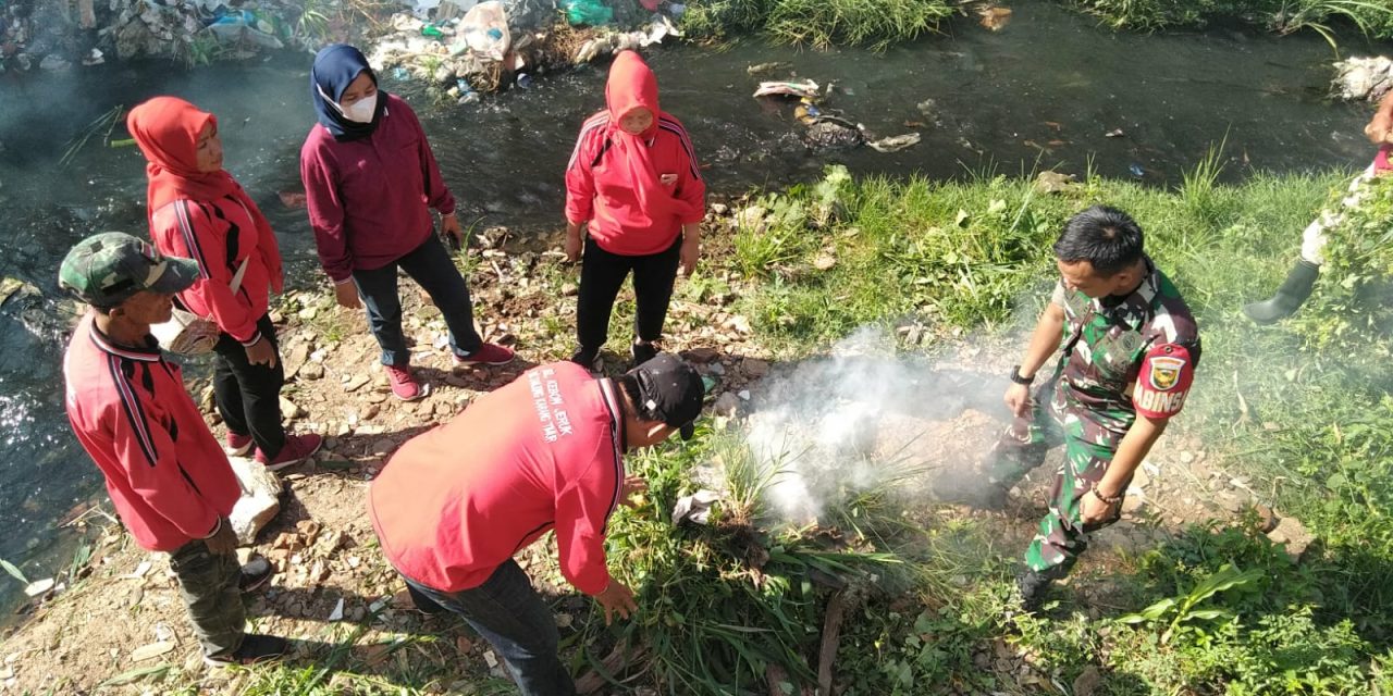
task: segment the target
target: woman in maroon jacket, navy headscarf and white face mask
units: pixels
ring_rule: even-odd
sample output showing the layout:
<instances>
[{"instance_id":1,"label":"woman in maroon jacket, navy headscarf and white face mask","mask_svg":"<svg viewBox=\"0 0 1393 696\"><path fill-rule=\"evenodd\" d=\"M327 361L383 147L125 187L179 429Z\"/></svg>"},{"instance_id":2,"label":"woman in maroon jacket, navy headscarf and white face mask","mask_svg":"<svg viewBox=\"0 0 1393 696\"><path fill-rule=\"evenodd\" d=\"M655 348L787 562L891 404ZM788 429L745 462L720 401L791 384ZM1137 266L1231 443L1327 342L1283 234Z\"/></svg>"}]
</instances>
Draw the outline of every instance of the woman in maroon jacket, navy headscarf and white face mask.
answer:
<instances>
[{"instance_id":1,"label":"woman in maroon jacket, navy headscarf and white face mask","mask_svg":"<svg viewBox=\"0 0 1393 696\"><path fill-rule=\"evenodd\" d=\"M440 308L457 365L511 361L513 351L483 342L475 331L469 288L433 234L428 206L440 212L444 234L461 241L454 196L417 114L378 89L362 53L343 43L315 56L309 92L319 122L299 150L299 177L319 260L341 306L361 306L359 295L368 306L391 393L405 401L429 393L411 374L398 267Z\"/></svg>"}]
</instances>

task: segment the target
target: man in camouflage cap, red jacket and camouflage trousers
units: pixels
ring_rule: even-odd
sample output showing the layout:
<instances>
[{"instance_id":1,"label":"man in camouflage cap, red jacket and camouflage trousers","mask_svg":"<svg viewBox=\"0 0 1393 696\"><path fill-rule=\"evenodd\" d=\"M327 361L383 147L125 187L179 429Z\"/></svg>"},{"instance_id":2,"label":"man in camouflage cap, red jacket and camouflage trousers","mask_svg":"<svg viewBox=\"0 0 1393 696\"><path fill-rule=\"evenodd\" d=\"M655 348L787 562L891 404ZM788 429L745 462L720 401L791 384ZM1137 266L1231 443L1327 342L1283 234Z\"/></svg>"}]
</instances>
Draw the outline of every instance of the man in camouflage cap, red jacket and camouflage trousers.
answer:
<instances>
[{"instance_id":1,"label":"man in camouflage cap, red jacket and camouflage trousers","mask_svg":"<svg viewBox=\"0 0 1393 696\"><path fill-rule=\"evenodd\" d=\"M67 412L135 541L170 554L194 633L210 665L251 664L286 640L245 632L242 590L270 564L237 564L228 514L241 486L221 444L166 362L150 324L167 322L174 294L198 278L189 259L163 258L123 232L89 237L63 259L59 285L91 305L63 361Z\"/></svg>"}]
</instances>

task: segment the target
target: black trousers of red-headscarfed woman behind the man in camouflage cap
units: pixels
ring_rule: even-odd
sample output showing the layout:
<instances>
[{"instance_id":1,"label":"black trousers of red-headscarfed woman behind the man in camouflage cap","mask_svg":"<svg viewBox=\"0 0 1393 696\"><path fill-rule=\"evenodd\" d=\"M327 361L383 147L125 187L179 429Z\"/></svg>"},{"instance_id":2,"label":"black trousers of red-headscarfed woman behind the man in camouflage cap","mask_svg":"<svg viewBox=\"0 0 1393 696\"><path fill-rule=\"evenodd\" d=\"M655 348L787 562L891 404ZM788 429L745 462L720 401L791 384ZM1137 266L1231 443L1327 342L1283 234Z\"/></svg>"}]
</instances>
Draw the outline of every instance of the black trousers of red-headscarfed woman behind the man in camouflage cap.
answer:
<instances>
[{"instance_id":1,"label":"black trousers of red-headscarfed woman behind the man in camouflage cap","mask_svg":"<svg viewBox=\"0 0 1393 696\"><path fill-rule=\"evenodd\" d=\"M221 334L213 351L213 400L227 430L249 434L266 459L286 445L286 427L280 425L280 387L286 367L280 362L280 341L270 315L256 320L256 330L276 347L276 366L247 362L247 348L237 338Z\"/></svg>"}]
</instances>

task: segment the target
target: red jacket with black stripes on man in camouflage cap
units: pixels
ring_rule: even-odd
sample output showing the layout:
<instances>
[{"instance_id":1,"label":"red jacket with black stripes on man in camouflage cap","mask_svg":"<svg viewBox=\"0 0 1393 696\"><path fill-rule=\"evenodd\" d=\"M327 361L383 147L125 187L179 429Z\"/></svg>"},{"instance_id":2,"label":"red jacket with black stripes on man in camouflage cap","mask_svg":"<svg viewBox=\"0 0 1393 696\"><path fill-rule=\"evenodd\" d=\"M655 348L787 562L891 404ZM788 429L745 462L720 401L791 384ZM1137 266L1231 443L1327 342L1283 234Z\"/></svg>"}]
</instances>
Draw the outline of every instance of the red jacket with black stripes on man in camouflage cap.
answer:
<instances>
[{"instance_id":1,"label":"red jacket with black stripes on man in camouflage cap","mask_svg":"<svg viewBox=\"0 0 1393 696\"><path fill-rule=\"evenodd\" d=\"M68 342L63 374L72 432L135 541L173 551L217 530L241 487L153 338L146 348L116 345L89 313Z\"/></svg>"}]
</instances>

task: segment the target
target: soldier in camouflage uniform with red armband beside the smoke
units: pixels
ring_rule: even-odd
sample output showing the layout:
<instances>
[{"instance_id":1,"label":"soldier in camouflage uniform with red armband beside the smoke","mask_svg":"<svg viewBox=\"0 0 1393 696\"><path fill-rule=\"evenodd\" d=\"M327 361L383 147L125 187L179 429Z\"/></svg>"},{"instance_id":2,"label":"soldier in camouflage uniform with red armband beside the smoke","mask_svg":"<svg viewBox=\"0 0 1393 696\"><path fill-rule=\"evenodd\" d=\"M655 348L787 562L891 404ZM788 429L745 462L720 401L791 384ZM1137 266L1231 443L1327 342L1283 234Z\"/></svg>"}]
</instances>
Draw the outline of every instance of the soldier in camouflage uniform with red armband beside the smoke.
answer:
<instances>
[{"instance_id":1,"label":"soldier in camouflage uniform with red armband beside the smoke","mask_svg":"<svg viewBox=\"0 0 1393 696\"><path fill-rule=\"evenodd\" d=\"M1055 255L1061 280L1011 372L1006 404L1015 420L988 465L992 483L1009 489L1064 444L1049 514L1017 579L1028 610L1068 574L1087 535L1117 521L1133 472L1180 412L1199 361L1195 320L1127 213L1078 213ZM1029 384L1056 347L1053 374L1032 398Z\"/></svg>"}]
</instances>

